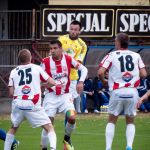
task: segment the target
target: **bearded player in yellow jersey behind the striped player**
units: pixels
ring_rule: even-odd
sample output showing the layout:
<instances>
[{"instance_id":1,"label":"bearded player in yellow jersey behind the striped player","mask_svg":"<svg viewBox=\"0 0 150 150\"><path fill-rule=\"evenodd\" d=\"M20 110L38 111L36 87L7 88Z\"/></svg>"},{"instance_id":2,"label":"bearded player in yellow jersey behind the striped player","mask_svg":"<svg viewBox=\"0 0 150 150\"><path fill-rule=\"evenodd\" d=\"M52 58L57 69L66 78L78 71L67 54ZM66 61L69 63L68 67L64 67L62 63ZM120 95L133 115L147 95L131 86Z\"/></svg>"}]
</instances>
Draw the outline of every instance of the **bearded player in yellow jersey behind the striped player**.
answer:
<instances>
[{"instance_id":1,"label":"bearded player in yellow jersey behind the striped player","mask_svg":"<svg viewBox=\"0 0 150 150\"><path fill-rule=\"evenodd\" d=\"M79 21L74 20L70 24L69 34L59 37L59 41L62 43L62 49L64 50L64 52L74 57L74 59L79 61L80 63L84 61L87 52L87 46L85 42L81 38L79 38L79 34L81 33L81 28L82 28L81 23ZM74 106L76 112L81 113L80 110L81 98L76 90L76 85L78 82L77 81L78 71L76 69L71 69L70 80L71 83L70 83L69 92L72 93L72 96L74 98ZM64 140L68 143L68 141L70 141L70 137L65 135ZM72 149L68 148L67 150L72 150Z\"/></svg>"}]
</instances>

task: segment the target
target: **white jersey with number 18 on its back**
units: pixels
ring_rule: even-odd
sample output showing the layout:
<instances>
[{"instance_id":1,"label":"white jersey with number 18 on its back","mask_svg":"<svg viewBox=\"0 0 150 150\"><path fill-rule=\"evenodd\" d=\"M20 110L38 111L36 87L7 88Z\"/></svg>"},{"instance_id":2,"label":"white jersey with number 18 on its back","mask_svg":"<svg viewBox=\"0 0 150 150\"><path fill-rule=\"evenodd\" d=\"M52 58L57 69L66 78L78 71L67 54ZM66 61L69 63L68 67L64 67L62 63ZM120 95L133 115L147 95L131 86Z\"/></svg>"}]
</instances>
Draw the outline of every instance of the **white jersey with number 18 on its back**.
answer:
<instances>
[{"instance_id":1,"label":"white jersey with number 18 on its back","mask_svg":"<svg viewBox=\"0 0 150 150\"><path fill-rule=\"evenodd\" d=\"M121 87L138 87L139 70L145 67L141 56L130 50L117 50L109 53L99 66L109 70L110 91Z\"/></svg>"}]
</instances>

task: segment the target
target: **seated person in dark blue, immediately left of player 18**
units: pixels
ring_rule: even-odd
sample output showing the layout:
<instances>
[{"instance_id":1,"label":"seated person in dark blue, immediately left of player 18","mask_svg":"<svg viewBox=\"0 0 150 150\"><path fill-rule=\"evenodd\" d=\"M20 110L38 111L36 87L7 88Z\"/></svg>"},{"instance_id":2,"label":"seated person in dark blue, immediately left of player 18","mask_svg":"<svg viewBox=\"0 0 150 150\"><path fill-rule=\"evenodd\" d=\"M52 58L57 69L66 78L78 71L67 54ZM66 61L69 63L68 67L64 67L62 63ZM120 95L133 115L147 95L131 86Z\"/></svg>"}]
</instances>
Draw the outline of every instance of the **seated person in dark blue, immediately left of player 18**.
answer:
<instances>
[{"instance_id":1,"label":"seated person in dark blue, immediately left of player 18","mask_svg":"<svg viewBox=\"0 0 150 150\"><path fill-rule=\"evenodd\" d=\"M102 105L108 105L109 99L106 94L103 92L103 84L98 77L95 77L93 80L93 89L94 89L94 112L100 113L100 107Z\"/></svg>"}]
</instances>

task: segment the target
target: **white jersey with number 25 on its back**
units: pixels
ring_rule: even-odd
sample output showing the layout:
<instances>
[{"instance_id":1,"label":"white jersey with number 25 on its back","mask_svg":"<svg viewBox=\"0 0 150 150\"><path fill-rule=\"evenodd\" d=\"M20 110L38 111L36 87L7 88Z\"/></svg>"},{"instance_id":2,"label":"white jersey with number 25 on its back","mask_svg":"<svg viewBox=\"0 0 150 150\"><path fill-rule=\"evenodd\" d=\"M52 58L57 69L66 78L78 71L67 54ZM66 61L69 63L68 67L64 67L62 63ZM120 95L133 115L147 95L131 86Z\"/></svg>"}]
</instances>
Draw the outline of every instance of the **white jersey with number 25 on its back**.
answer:
<instances>
[{"instance_id":1,"label":"white jersey with number 25 on its back","mask_svg":"<svg viewBox=\"0 0 150 150\"><path fill-rule=\"evenodd\" d=\"M10 73L8 86L14 87L14 99L32 100L41 105L41 79L49 78L44 70L35 64L20 65Z\"/></svg>"}]
</instances>

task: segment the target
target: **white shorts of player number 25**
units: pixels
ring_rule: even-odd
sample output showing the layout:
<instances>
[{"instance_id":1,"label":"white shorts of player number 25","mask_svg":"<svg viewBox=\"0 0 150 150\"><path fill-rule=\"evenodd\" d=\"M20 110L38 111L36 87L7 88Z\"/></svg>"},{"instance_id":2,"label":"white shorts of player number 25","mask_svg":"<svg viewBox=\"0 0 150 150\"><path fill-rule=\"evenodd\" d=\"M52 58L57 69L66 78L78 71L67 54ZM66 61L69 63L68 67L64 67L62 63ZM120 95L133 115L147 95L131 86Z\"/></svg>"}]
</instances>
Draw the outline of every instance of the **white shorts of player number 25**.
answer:
<instances>
[{"instance_id":1,"label":"white shorts of player number 25","mask_svg":"<svg viewBox=\"0 0 150 150\"><path fill-rule=\"evenodd\" d=\"M51 123L43 107L35 110L21 110L16 103L12 102L11 122L13 126L18 127L24 119L27 119L33 128Z\"/></svg>"}]
</instances>

